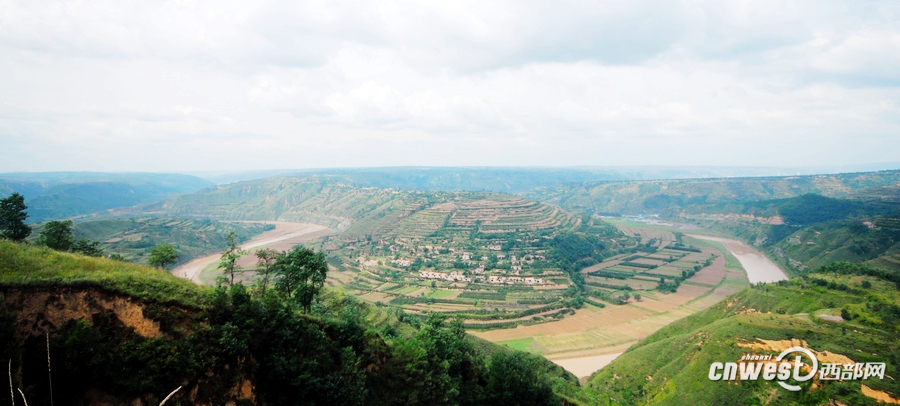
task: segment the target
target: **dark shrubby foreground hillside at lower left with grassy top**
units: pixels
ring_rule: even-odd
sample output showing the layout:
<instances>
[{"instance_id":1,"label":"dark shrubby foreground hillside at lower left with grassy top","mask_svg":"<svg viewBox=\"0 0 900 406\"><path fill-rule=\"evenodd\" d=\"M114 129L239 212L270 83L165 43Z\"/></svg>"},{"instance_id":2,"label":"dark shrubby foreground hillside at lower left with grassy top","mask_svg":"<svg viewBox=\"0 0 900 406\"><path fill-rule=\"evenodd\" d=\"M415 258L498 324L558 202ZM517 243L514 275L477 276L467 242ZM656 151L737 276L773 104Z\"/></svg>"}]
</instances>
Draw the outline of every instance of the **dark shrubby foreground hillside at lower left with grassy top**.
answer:
<instances>
[{"instance_id":1,"label":"dark shrubby foreground hillside at lower left with grassy top","mask_svg":"<svg viewBox=\"0 0 900 406\"><path fill-rule=\"evenodd\" d=\"M398 318L399 316L399 318ZM31 405L560 405L575 378L458 324L415 326L336 292L205 288L0 241L0 358ZM47 346L52 391L47 378ZM571 402L568 404L572 404Z\"/></svg>"}]
</instances>

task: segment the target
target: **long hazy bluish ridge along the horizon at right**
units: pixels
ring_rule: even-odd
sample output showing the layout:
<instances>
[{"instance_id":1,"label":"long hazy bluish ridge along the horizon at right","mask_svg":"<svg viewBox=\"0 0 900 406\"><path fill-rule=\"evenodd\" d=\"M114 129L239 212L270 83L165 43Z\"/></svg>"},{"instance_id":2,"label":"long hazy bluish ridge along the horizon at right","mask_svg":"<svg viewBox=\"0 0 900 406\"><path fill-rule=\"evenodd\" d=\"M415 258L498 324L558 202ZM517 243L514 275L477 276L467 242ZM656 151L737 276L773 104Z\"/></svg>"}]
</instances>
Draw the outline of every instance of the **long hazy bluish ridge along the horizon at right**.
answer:
<instances>
[{"instance_id":1,"label":"long hazy bluish ridge along the horizon at right","mask_svg":"<svg viewBox=\"0 0 900 406\"><path fill-rule=\"evenodd\" d=\"M700 204L742 203L815 193L846 197L900 184L900 171L766 178L682 179L573 183L537 188L523 196L586 213L660 213Z\"/></svg>"}]
</instances>

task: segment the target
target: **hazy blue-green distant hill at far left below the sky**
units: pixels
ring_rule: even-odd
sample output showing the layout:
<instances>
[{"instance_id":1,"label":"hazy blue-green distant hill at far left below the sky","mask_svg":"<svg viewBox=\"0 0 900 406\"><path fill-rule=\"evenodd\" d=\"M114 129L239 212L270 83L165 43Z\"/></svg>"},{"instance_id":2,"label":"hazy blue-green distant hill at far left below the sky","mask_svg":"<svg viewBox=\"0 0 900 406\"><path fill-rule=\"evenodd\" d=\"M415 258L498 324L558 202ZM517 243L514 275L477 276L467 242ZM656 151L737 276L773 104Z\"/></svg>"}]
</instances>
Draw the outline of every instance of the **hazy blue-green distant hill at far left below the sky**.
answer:
<instances>
[{"instance_id":1,"label":"hazy blue-green distant hill at far left below the sky","mask_svg":"<svg viewBox=\"0 0 900 406\"><path fill-rule=\"evenodd\" d=\"M198 177L158 173L4 173L0 196L18 192L28 222L64 219L134 206L212 186Z\"/></svg>"}]
</instances>

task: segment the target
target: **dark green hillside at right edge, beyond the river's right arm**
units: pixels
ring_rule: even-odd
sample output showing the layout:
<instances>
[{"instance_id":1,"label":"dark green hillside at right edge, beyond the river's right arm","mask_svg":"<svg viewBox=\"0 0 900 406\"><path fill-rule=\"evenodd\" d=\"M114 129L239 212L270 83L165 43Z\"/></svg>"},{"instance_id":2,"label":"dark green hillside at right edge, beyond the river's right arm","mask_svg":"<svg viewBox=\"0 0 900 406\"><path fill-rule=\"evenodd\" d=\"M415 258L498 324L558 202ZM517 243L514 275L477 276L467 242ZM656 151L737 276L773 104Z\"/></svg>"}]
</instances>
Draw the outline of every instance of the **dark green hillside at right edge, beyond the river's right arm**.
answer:
<instances>
[{"instance_id":1,"label":"dark green hillside at right edge, beyond the river's right arm","mask_svg":"<svg viewBox=\"0 0 900 406\"><path fill-rule=\"evenodd\" d=\"M695 205L665 216L749 241L789 271L835 261L900 270L900 199L896 187L868 189L849 198L807 194L776 200Z\"/></svg>"}]
</instances>

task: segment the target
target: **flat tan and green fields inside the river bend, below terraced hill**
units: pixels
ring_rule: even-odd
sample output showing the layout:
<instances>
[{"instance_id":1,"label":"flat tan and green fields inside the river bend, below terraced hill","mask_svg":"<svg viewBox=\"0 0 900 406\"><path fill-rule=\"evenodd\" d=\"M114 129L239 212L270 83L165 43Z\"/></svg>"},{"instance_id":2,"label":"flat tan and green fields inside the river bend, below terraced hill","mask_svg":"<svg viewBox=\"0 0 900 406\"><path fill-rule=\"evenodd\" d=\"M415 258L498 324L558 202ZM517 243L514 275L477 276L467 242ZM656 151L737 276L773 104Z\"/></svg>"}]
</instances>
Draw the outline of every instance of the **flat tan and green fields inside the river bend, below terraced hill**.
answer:
<instances>
[{"instance_id":1,"label":"flat tan and green fields inside the river bend, below terraced hill","mask_svg":"<svg viewBox=\"0 0 900 406\"><path fill-rule=\"evenodd\" d=\"M470 333L542 354L579 376L586 376L663 326L748 286L746 274L724 247L689 238L676 246L679 239L669 230L639 225L620 228L641 235L645 242L657 243L650 249L652 252L616 255L582 270L586 289L595 293L595 300L605 307L588 305L559 321ZM625 262L656 268L622 265ZM684 278L676 292L658 290L661 277L667 281L670 275L680 278L683 271L694 270L698 265L700 269ZM596 276L597 273L609 276ZM626 292L628 299L617 300Z\"/></svg>"}]
</instances>

